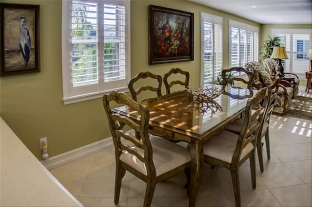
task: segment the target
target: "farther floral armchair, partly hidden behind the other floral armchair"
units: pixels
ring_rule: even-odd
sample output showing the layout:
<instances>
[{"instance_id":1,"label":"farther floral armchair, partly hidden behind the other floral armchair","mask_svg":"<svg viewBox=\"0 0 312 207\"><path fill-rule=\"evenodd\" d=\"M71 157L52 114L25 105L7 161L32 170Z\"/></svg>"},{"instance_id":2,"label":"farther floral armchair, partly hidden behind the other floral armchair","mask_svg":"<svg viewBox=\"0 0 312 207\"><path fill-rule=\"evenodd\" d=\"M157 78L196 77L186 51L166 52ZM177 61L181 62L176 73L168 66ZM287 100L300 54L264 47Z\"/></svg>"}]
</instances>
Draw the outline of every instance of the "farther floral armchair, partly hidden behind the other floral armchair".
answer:
<instances>
[{"instance_id":1,"label":"farther floral armchair, partly hidden behind the other floral armchair","mask_svg":"<svg viewBox=\"0 0 312 207\"><path fill-rule=\"evenodd\" d=\"M262 61L263 67L267 71L269 71L270 74L274 74L276 64L277 63L273 58L267 58L267 59L264 59ZM294 73L285 72L284 74L287 75L288 77L290 77L290 79L286 78L285 80L287 80L292 85L292 89L293 89L292 98L294 98L298 94L298 91L299 91L298 87L299 87L300 80L299 80L298 76Z\"/></svg>"}]
</instances>

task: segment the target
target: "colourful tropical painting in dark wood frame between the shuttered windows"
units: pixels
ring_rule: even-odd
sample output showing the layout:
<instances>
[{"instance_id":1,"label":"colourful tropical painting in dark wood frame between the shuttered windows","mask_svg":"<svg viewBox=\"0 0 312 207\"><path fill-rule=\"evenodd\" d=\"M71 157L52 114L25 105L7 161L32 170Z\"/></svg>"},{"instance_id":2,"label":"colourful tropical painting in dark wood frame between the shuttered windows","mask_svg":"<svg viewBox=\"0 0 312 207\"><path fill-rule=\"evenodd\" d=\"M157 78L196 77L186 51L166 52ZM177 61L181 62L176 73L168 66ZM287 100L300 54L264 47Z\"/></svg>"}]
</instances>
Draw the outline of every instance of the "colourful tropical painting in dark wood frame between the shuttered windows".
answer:
<instances>
[{"instance_id":1,"label":"colourful tropical painting in dark wood frame between the shuttered windows","mask_svg":"<svg viewBox=\"0 0 312 207\"><path fill-rule=\"evenodd\" d=\"M161 20L163 21L157 22L156 24L155 22L156 17L158 17L158 19L162 18ZM169 20L173 19L174 17L180 18L180 20L177 20L177 22L179 22L181 25L183 24L183 21L186 19L185 22L187 22L188 24L186 30L180 32L181 30L179 30L178 28L173 28L174 24L172 24L172 21ZM167 38L165 37L166 34L167 35L170 34L170 36L175 37L172 39L175 40L175 42L179 42L179 44L177 45L180 45L179 47L176 47L176 50L172 50L170 55L167 54L167 52L170 52L169 50L170 43L167 42L166 44ZM184 38L185 34L186 38ZM157 47L158 39L161 47L159 46L159 44ZM187 40L187 42L183 43L183 39ZM149 65L194 60L194 13L184 12L176 9L169 9L155 5L149 5L148 50L149 50L149 58L148 58ZM187 51L187 52L184 52L181 55L177 55L178 51L179 52ZM163 53L163 56L162 55L160 56L160 53L161 54Z\"/></svg>"}]
</instances>

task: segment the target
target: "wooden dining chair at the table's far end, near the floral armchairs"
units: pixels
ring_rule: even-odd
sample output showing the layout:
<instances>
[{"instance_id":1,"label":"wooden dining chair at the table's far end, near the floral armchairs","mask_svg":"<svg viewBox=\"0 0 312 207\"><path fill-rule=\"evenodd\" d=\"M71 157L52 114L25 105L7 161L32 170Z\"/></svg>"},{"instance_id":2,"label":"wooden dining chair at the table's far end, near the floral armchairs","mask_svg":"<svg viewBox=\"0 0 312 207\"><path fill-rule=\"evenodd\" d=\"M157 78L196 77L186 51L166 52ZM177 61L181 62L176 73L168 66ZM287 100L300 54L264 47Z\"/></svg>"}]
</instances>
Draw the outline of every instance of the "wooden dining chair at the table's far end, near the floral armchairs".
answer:
<instances>
[{"instance_id":1,"label":"wooden dining chair at the table's far end, near the floral armchairs","mask_svg":"<svg viewBox=\"0 0 312 207\"><path fill-rule=\"evenodd\" d=\"M239 72L241 75L246 74L248 77L246 79L243 77L237 77L237 76L228 78L226 76L226 74L230 73L230 72L232 72L232 73L233 72ZM252 81L254 79L254 73L252 73L252 72L250 72L244 68L241 68L241 67L232 67L230 69L224 69L224 70L222 70L221 75L222 75L222 79L223 79L223 86L227 86L228 83L236 81L235 85L237 85L239 87L251 88Z\"/></svg>"}]
</instances>

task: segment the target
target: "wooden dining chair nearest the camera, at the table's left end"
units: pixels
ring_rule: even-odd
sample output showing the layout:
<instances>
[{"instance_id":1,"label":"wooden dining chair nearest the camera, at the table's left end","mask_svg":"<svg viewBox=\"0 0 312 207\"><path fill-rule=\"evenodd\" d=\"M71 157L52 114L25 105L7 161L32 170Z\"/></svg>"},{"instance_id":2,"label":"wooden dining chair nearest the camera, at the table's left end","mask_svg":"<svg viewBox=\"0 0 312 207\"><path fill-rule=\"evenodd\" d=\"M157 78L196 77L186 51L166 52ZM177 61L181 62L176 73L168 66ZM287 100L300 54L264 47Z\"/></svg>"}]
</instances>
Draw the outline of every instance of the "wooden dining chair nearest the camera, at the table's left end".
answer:
<instances>
[{"instance_id":1,"label":"wooden dining chair nearest the camera, at the table's left end","mask_svg":"<svg viewBox=\"0 0 312 207\"><path fill-rule=\"evenodd\" d=\"M140 120L134 121L129 117L113 113L110 103L129 106L139 113ZM190 152L171 141L148 134L150 114L145 105L116 91L103 96L103 105L115 145L115 204L119 202L121 180L126 171L147 183L144 207L151 206L156 183L170 179L182 171L185 171L187 180L190 180ZM140 139L124 131L124 126L138 131Z\"/></svg>"}]
</instances>

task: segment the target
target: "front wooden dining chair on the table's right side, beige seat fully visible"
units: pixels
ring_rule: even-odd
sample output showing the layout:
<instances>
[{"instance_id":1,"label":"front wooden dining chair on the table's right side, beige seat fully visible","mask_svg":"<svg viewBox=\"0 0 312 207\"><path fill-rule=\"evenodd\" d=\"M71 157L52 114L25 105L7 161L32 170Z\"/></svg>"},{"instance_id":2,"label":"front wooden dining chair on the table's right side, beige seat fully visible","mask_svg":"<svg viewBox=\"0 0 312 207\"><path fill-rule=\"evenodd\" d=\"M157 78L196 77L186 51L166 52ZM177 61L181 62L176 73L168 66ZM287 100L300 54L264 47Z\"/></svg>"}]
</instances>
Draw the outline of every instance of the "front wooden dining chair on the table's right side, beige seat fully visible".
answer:
<instances>
[{"instance_id":1,"label":"front wooden dining chair on the table's right side, beige seat fully visible","mask_svg":"<svg viewBox=\"0 0 312 207\"><path fill-rule=\"evenodd\" d=\"M260 89L254 98L247 101L244 122L240 134L223 130L203 146L204 162L231 171L236 207L241 206L239 187L239 166L248 158L253 189L256 188L255 146L267 104L266 89ZM255 109L256 108L256 109ZM252 113L252 109L254 112Z\"/></svg>"}]
</instances>

